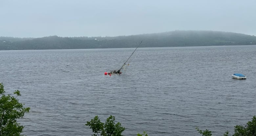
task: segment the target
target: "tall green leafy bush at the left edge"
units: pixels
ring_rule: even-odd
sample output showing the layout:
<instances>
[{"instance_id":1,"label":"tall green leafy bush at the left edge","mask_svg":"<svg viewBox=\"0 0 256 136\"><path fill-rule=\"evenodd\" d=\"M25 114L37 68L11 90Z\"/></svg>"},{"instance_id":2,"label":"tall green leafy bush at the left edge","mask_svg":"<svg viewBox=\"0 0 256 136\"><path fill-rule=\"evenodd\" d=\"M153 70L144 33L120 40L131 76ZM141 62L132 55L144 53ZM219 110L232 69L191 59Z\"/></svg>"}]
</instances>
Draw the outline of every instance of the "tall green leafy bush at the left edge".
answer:
<instances>
[{"instance_id":1,"label":"tall green leafy bush at the left edge","mask_svg":"<svg viewBox=\"0 0 256 136\"><path fill-rule=\"evenodd\" d=\"M14 94L17 97L21 96L18 90ZM0 136L23 136L20 133L24 127L16 121L28 113L30 108L24 108L24 104L17 98L5 95L2 83L0 83L0 96Z\"/></svg>"}]
</instances>

